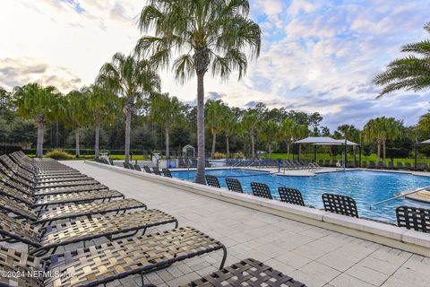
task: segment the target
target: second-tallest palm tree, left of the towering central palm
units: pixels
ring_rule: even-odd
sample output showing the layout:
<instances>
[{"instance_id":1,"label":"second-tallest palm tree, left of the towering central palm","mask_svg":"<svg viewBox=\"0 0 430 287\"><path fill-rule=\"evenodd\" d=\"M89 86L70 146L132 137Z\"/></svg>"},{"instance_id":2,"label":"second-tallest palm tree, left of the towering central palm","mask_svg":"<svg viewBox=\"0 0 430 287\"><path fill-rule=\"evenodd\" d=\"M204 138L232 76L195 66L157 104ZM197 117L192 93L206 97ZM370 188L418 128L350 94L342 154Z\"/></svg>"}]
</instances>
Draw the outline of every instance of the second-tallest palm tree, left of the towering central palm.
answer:
<instances>
[{"instance_id":1,"label":"second-tallest palm tree, left of the towering central palm","mask_svg":"<svg viewBox=\"0 0 430 287\"><path fill-rule=\"evenodd\" d=\"M132 115L144 96L159 91L159 75L152 70L149 61L116 53L111 63L101 67L97 83L124 100L125 162L129 162Z\"/></svg>"}]
</instances>

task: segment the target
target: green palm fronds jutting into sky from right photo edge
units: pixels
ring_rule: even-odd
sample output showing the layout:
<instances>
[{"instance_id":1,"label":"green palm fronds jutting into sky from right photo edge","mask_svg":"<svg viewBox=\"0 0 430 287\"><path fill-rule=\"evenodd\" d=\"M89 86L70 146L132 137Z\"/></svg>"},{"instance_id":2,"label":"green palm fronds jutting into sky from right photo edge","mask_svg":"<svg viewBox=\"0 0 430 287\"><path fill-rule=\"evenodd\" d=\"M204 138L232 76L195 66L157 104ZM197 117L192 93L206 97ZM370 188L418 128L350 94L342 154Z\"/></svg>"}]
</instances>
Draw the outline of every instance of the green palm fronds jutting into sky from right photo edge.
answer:
<instances>
[{"instance_id":1,"label":"green palm fronds jutting into sky from right photo edge","mask_svg":"<svg viewBox=\"0 0 430 287\"><path fill-rule=\"evenodd\" d=\"M430 22L424 29L430 33ZM401 52L415 53L420 57L409 55L394 60L387 65L385 72L377 74L373 82L383 86L379 97L391 91L420 91L430 87L430 39L405 45Z\"/></svg>"}]
</instances>

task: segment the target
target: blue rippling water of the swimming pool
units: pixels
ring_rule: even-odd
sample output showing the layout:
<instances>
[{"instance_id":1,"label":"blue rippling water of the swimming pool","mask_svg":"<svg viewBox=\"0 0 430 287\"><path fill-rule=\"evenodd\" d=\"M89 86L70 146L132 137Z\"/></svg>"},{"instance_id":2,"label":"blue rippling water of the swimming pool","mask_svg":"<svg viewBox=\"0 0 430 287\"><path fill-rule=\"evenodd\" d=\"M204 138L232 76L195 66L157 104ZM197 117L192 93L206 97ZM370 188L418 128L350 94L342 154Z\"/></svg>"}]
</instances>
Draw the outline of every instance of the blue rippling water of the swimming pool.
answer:
<instances>
[{"instance_id":1,"label":"blue rippling water of the swimming pool","mask_svg":"<svg viewBox=\"0 0 430 287\"><path fill-rule=\"evenodd\" d=\"M206 170L219 178L219 184L226 187L225 178L240 180L245 192L252 194L251 182L262 182L271 187L271 194L278 198L278 187L294 187L302 192L305 204L323 208L323 193L351 196L356 200L358 214L385 222L396 222L395 208L402 204L430 208L430 204L419 203L406 198L391 200L369 208L371 204L396 196L406 190L430 186L430 177L419 177L407 173L354 170L347 172L320 173L314 177L276 176L255 170ZM176 171L172 176L193 181L195 171Z\"/></svg>"}]
</instances>

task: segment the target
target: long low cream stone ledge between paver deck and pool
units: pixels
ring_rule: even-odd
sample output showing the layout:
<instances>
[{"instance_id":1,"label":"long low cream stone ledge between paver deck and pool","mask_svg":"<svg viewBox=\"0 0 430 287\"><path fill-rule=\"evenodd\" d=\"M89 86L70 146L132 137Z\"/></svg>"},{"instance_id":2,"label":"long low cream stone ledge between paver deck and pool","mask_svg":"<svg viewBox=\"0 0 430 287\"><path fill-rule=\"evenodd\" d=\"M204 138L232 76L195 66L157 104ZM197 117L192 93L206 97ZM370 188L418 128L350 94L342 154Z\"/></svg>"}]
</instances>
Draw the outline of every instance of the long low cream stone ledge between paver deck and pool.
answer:
<instances>
[{"instance_id":1,"label":"long low cream stone ledge between paver deck and pool","mask_svg":"<svg viewBox=\"0 0 430 287\"><path fill-rule=\"evenodd\" d=\"M430 257L430 234L416 230L407 230L362 218L353 218L318 209L281 203L252 195L230 192L225 188L208 187L178 178L166 178L137 170L126 170L95 161L84 161L87 164L113 170L136 178L143 178L169 187L179 188L201 196L208 196L231 204L245 206L263 213L271 213L283 218L303 222L327 230L337 231L359 239L366 239L391 248Z\"/></svg>"}]
</instances>

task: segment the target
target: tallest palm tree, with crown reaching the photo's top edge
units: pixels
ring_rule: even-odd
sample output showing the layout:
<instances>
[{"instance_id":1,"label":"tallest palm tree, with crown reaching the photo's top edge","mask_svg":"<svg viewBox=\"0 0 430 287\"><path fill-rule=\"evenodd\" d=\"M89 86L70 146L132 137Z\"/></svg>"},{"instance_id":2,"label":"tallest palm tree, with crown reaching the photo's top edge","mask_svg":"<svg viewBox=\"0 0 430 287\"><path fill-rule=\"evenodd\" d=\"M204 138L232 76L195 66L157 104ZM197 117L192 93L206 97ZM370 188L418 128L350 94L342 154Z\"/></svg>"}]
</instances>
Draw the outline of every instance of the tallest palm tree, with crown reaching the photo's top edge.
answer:
<instances>
[{"instance_id":1,"label":"tallest palm tree, with crown reaching the photo's top edge","mask_svg":"<svg viewBox=\"0 0 430 287\"><path fill-rule=\"evenodd\" d=\"M248 52L258 57L261 30L248 18L247 0L150 0L139 19L144 36L136 51L150 54L156 66L167 67L171 57L176 81L197 75L197 172L195 182L204 184L204 76L211 70L227 80L233 71L246 72Z\"/></svg>"}]
</instances>

